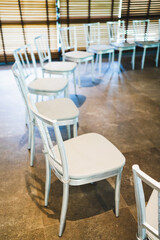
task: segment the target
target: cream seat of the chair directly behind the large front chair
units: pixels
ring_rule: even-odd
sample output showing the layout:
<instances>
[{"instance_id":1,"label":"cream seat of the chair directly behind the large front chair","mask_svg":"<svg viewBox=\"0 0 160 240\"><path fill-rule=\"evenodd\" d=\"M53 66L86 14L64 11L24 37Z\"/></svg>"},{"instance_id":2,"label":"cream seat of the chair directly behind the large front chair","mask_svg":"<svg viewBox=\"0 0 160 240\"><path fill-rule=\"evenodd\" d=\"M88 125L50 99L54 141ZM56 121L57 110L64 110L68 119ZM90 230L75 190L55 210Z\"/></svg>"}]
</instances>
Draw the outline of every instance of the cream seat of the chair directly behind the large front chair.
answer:
<instances>
[{"instance_id":1,"label":"cream seat of the chair directly behind the large front chair","mask_svg":"<svg viewBox=\"0 0 160 240\"><path fill-rule=\"evenodd\" d=\"M37 110L49 119L63 121L74 119L79 116L79 110L72 100L57 98L54 100L37 102Z\"/></svg>"}]
</instances>

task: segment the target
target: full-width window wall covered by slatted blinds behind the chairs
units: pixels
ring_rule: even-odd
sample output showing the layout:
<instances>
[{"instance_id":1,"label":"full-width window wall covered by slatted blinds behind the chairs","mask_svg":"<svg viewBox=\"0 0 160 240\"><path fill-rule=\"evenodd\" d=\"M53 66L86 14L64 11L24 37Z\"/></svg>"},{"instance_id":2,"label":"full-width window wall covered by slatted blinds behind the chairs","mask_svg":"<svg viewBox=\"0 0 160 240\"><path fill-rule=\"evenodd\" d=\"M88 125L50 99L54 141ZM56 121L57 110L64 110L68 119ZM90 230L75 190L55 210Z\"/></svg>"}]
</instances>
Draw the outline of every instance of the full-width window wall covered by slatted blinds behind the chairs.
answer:
<instances>
[{"instance_id":1,"label":"full-width window wall covered by slatted blinds behind the chairs","mask_svg":"<svg viewBox=\"0 0 160 240\"><path fill-rule=\"evenodd\" d=\"M59 7L58 7L59 6ZM57 14L58 12L58 14ZM150 19L150 38L158 38L159 0L0 0L0 62L14 61L13 50L47 34L51 52L58 57L57 25L77 26L78 47L85 48L84 23L100 22L107 43L105 22L124 19L127 38L134 40L132 20ZM57 19L58 16L58 19ZM55 54L57 53L57 54Z\"/></svg>"}]
</instances>

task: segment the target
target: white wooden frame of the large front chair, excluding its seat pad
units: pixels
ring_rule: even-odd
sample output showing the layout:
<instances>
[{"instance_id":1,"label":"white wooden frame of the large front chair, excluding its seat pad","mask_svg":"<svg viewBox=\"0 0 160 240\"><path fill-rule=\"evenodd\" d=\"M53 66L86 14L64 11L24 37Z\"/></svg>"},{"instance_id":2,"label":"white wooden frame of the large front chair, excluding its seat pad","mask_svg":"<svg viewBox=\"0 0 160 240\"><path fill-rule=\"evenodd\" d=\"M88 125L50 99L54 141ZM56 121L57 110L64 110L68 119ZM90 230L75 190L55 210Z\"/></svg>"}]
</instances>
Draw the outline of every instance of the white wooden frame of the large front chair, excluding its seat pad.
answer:
<instances>
[{"instance_id":1,"label":"white wooden frame of the large front chair, excluding its seat pad","mask_svg":"<svg viewBox=\"0 0 160 240\"><path fill-rule=\"evenodd\" d=\"M34 104L32 103L29 95L28 95L28 102L29 102L29 107L30 107L33 115L35 116L37 125L39 127L39 131L40 131L40 134L41 134L41 137L43 140L43 144L44 144L44 149L45 149L45 157L46 157L46 163L47 163L45 206L48 205L48 196L49 196L50 182L51 182L51 169L53 170L53 172L57 176L57 178L63 183L63 200L62 200L62 208L61 208L61 216L60 216L59 236L62 236L64 226L65 226L70 185L71 186L79 186L79 185L84 185L84 184L100 181L100 180L103 180L103 179L106 179L106 178L109 178L112 176L116 176L115 213L116 213L116 216L119 216L120 184L121 184L121 173L123 170L123 166L125 164L124 156L119 152L121 160L119 160L120 162L117 164L117 168L114 168L114 169L111 168L112 170L110 170L110 171L109 170L105 171L103 169L103 172L101 172L101 173L97 173L97 174L94 173L93 175L88 175L88 176L85 175L85 177L78 177L78 176L71 177L69 174L69 166L68 166L69 159L67 156L67 152L65 150L66 145L65 145L65 142L63 142L63 140L62 140L57 121L48 119L45 116L39 114L38 111L36 110ZM53 128L54 128L54 132L56 135L56 141L57 141L57 145L54 147L52 145L52 141L49 136L49 132L47 130L47 125L53 126ZM88 134L86 134L86 135L88 136ZM80 139L80 138L81 138L81 136L77 137L77 139ZM76 141L76 138L74 138L72 140L73 141L71 141L70 143L73 146L73 142ZM108 141L108 140L106 140L106 141ZM92 140L92 143L93 143L93 140ZM67 144L69 144L68 141L67 141ZM97 144L97 140L96 140L96 144ZM56 147L58 147L57 149L59 150L60 160L57 158L57 154L54 151ZM84 157L83 149L81 150L81 152L82 152L82 156Z\"/></svg>"}]
</instances>

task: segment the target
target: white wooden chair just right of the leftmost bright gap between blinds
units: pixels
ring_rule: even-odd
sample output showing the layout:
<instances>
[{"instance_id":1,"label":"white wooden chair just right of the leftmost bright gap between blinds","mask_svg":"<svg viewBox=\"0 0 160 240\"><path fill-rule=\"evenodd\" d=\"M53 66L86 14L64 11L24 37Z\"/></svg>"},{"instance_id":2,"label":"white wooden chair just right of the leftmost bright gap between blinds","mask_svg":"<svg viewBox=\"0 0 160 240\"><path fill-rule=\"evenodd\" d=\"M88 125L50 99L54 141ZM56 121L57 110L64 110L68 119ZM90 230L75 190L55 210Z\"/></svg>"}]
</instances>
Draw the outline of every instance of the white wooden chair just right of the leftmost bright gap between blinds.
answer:
<instances>
[{"instance_id":1,"label":"white wooden chair just right of the leftmost bright gap between blinds","mask_svg":"<svg viewBox=\"0 0 160 240\"><path fill-rule=\"evenodd\" d=\"M80 65L81 63L91 62L92 82L94 82L94 54L77 49L76 27L59 28L59 36L62 47L63 61L71 61L78 64L78 85L81 86Z\"/></svg>"}]
</instances>

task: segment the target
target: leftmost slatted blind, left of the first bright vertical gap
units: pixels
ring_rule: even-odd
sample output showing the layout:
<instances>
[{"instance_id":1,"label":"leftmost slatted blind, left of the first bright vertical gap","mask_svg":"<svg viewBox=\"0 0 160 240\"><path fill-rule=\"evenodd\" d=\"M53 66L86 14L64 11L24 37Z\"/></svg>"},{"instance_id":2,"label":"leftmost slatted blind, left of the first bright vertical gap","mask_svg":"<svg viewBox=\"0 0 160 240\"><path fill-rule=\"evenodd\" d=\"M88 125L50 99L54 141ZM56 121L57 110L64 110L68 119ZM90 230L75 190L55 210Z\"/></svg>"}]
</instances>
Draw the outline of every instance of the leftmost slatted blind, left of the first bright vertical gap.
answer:
<instances>
[{"instance_id":1,"label":"leftmost slatted blind, left of the first bright vertical gap","mask_svg":"<svg viewBox=\"0 0 160 240\"><path fill-rule=\"evenodd\" d=\"M13 61L13 50L47 34L57 51L56 0L0 0L0 61Z\"/></svg>"}]
</instances>

